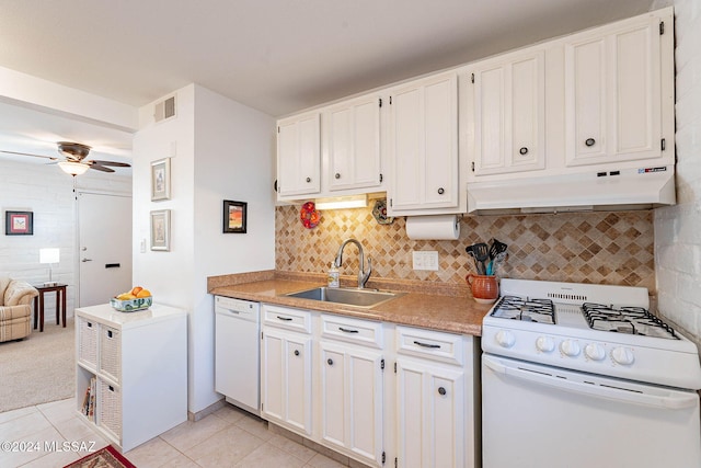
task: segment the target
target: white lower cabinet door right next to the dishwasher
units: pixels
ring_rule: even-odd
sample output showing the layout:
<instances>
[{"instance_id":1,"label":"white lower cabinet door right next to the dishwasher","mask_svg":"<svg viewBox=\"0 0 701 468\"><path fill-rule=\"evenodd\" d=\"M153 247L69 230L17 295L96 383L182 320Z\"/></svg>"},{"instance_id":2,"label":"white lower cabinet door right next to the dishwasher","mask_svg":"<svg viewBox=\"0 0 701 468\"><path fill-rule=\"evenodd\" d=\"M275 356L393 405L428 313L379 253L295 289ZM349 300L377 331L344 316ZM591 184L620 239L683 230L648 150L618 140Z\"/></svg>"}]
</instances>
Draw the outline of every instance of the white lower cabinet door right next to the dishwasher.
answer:
<instances>
[{"instance_id":1,"label":"white lower cabinet door right next to the dishwasher","mask_svg":"<svg viewBox=\"0 0 701 468\"><path fill-rule=\"evenodd\" d=\"M311 434L311 338L265 329L261 353L262 412Z\"/></svg>"}]
</instances>

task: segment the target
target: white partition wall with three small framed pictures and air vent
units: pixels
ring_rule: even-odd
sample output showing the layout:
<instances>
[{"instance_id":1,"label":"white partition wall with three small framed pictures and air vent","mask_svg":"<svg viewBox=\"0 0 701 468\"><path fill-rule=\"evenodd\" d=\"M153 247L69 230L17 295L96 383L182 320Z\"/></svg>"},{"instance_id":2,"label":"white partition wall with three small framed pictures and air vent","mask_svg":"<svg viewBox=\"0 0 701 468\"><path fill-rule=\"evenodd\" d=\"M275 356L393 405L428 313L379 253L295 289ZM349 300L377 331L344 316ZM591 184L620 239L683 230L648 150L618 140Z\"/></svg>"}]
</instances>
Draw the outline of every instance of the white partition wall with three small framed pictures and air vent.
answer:
<instances>
[{"instance_id":1,"label":"white partition wall with three small framed pictures and air vent","mask_svg":"<svg viewBox=\"0 0 701 468\"><path fill-rule=\"evenodd\" d=\"M205 88L176 91L175 118L153 123L141 109L134 142L134 278L154 300L187 310L188 410L214 391L214 310L207 276L274 269L273 117ZM171 199L150 201L150 162L172 157ZM222 201L249 203L249 233L222 233ZM139 253L149 243L149 212L171 209L171 251Z\"/></svg>"}]
</instances>

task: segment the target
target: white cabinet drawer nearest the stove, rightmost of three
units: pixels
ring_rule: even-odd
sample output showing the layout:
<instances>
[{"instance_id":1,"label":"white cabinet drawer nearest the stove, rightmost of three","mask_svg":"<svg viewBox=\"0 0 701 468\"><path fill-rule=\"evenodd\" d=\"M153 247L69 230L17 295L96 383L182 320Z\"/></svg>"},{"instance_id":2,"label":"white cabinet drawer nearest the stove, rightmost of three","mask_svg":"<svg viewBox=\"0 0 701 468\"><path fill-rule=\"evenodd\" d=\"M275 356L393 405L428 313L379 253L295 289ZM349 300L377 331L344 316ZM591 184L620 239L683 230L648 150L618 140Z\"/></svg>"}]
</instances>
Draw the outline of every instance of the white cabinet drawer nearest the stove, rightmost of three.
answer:
<instances>
[{"instance_id":1,"label":"white cabinet drawer nearest the stove, rightmost of three","mask_svg":"<svg viewBox=\"0 0 701 468\"><path fill-rule=\"evenodd\" d=\"M397 352L444 363L464 364L462 335L397 327Z\"/></svg>"}]
</instances>

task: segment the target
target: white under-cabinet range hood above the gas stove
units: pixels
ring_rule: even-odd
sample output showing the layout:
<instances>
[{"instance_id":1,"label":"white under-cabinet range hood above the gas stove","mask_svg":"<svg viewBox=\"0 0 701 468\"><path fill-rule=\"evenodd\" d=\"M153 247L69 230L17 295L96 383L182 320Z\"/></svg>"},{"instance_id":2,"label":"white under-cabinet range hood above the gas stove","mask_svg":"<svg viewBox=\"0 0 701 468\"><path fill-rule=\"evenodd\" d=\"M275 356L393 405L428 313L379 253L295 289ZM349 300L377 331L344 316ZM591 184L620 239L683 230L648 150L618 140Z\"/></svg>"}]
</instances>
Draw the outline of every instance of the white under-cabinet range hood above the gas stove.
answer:
<instances>
[{"instance_id":1,"label":"white under-cabinet range hood above the gas stove","mask_svg":"<svg viewBox=\"0 0 701 468\"><path fill-rule=\"evenodd\" d=\"M674 165L468 183L468 213L558 213L674 205Z\"/></svg>"}]
</instances>

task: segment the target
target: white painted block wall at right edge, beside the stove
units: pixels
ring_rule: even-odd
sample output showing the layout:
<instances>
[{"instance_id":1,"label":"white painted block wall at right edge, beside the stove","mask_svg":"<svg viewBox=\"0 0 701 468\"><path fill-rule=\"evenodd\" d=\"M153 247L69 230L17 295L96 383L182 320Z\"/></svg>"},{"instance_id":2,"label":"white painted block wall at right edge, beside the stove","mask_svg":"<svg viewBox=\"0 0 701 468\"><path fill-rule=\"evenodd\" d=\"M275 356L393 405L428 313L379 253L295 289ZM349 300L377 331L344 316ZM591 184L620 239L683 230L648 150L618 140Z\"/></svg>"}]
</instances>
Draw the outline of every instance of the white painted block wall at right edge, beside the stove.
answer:
<instances>
[{"instance_id":1,"label":"white painted block wall at right edge, beside the stove","mask_svg":"<svg viewBox=\"0 0 701 468\"><path fill-rule=\"evenodd\" d=\"M658 308L701 342L701 2L674 5L677 205L655 210Z\"/></svg>"}]
</instances>

